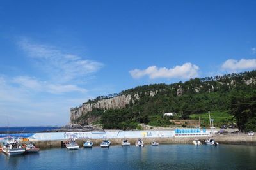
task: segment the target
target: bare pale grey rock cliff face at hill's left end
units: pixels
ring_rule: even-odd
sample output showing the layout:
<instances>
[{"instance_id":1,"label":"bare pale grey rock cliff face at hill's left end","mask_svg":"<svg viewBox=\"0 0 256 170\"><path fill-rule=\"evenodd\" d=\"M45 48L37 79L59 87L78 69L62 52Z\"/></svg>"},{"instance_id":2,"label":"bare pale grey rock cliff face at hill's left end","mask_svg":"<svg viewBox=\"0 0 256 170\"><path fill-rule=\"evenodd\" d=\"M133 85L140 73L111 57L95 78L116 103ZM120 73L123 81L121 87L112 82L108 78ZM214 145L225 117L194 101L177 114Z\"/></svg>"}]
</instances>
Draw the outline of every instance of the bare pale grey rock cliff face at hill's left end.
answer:
<instances>
[{"instance_id":1,"label":"bare pale grey rock cliff face at hill's left end","mask_svg":"<svg viewBox=\"0 0 256 170\"><path fill-rule=\"evenodd\" d=\"M108 109L119 109L124 108L127 104L130 104L130 101L134 103L135 100L138 100L138 94L122 94L120 96L112 97L109 99L101 99L96 103L84 103L79 107L70 108L70 122L72 124L77 123L77 120L83 116L88 114L93 108L108 110ZM97 119L97 118L96 118ZM95 120L95 118L93 118ZM84 123L91 123L93 120L88 120Z\"/></svg>"}]
</instances>

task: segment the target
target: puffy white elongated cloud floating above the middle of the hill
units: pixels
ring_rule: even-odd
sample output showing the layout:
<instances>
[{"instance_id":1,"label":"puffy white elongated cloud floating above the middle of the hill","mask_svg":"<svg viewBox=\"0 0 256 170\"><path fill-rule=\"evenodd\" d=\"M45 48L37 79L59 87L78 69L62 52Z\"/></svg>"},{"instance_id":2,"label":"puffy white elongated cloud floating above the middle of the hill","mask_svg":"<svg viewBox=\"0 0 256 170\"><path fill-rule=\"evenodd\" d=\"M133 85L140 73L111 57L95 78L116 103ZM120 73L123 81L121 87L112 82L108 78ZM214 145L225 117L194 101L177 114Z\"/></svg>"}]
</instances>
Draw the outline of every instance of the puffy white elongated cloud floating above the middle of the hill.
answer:
<instances>
[{"instance_id":1,"label":"puffy white elongated cloud floating above the middle of the hill","mask_svg":"<svg viewBox=\"0 0 256 170\"><path fill-rule=\"evenodd\" d=\"M129 71L132 78L141 78L143 76L149 76L150 79L154 78L194 78L198 76L199 67L195 64L187 62L182 66L175 66L173 68L150 66L147 69L133 69Z\"/></svg>"}]
</instances>

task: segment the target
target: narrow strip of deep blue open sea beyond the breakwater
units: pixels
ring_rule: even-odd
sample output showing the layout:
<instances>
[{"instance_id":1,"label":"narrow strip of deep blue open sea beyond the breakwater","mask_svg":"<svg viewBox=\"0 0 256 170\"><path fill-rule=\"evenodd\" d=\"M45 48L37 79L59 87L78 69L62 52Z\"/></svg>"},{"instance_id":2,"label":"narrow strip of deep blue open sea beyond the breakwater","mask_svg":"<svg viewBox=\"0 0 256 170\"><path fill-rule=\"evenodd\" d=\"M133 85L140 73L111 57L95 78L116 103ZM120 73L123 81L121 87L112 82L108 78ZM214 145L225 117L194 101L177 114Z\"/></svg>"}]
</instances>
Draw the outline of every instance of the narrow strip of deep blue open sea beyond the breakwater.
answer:
<instances>
[{"instance_id":1,"label":"narrow strip of deep blue open sea beyond the breakwater","mask_svg":"<svg viewBox=\"0 0 256 170\"><path fill-rule=\"evenodd\" d=\"M53 129L59 129L60 127L0 127L0 133L6 132L43 132L43 131L50 131Z\"/></svg>"}]
</instances>

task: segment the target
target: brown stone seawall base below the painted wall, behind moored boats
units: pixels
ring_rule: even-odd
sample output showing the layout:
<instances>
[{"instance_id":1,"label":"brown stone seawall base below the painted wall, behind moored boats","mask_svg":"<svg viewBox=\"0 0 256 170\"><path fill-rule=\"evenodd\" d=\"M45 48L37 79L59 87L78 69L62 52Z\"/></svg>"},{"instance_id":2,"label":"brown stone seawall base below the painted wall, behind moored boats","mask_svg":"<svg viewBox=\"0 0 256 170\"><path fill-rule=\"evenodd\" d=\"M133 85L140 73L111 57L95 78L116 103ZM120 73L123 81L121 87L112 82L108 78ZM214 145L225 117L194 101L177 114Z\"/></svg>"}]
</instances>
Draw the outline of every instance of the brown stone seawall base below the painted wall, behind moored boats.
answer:
<instances>
[{"instance_id":1,"label":"brown stone seawall base below the painted wall, behind moored boats","mask_svg":"<svg viewBox=\"0 0 256 170\"><path fill-rule=\"evenodd\" d=\"M232 145L256 145L256 137L250 137L245 135L216 135L213 136L216 141L220 144L232 144ZM135 141L138 138L126 138L131 143L131 145L135 145ZM161 137L161 138L141 138L146 145L149 145L150 142L152 142L154 139L159 142L159 144L185 144L189 143L192 144L192 141L195 139L195 137L186 137L186 138L177 138L177 137ZM203 143L205 139L209 139L209 137L199 137L197 139L200 139ZM121 145L122 138L109 138L108 140L111 141L111 145ZM61 141L63 140L54 140L54 141L34 141L35 145L38 146L41 149L46 148L60 148L61 147ZM83 141L86 141L86 139L77 139L76 142L79 144L79 146L83 146ZM100 143L102 143L102 139L91 139L93 141L93 146L100 146ZM64 142L64 141L63 141Z\"/></svg>"}]
</instances>

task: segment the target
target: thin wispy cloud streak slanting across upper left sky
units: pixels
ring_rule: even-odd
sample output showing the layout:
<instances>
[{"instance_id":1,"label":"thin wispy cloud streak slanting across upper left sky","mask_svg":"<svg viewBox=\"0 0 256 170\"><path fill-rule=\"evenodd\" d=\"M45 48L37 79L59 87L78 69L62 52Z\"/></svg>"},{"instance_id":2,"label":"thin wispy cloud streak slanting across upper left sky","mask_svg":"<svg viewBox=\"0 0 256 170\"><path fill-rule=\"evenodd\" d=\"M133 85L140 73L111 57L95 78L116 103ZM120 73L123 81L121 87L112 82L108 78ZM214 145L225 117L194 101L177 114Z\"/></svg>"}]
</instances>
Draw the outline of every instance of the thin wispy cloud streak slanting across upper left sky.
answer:
<instances>
[{"instance_id":1,"label":"thin wispy cloud streak slanting across upper left sky","mask_svg":"<svg viewBox=\"0 0 256 170\"><path fill-rule=\"evenodd\" d=\"M31 43L27 39L20 41L19 45L54 81L67 82L81 79L99 71L103 66L100 62L84 60L54 46Z\"/></svg>"}]
</instances>

